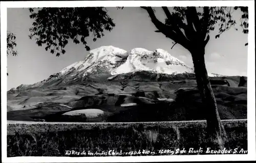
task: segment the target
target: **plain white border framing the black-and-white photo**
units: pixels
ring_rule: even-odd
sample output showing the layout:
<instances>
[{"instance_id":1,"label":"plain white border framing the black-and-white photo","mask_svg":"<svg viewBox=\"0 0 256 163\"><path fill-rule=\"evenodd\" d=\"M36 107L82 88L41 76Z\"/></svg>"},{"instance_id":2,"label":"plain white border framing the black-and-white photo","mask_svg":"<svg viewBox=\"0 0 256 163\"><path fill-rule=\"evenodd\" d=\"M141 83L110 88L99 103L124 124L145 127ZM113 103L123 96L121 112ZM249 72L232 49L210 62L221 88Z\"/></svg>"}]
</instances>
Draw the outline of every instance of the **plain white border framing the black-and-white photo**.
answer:
<instances>
[{"instance_id":1,"label":"plain white border framing the black-and-white photo","mask_svg":"<svg viewBox=\"0 0 256 163\"><path fill-rule=\"evenodd\" d=\"M140 7L140 6L248 6L248 67L247 123L248 154L233 155L172 155L127 157L7 157L7 8L30 7ZM227 161L255 160L255 31L254 1L33 1L1 2L1 112L3 162L156 162L156 161Z\"/></svg>"}]
</instances>

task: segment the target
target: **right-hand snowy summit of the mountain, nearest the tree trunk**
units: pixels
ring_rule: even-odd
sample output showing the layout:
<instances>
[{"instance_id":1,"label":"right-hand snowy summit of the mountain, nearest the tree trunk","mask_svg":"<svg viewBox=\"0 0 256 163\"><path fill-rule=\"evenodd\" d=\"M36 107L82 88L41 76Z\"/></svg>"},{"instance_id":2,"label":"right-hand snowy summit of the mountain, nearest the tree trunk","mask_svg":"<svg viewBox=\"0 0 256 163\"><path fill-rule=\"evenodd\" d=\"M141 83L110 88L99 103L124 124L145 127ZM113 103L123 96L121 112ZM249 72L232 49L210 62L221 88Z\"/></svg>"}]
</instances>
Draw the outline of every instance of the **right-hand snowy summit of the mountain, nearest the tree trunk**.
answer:
<instances>
[{"instance_id":1,"label":"right-hand snowy summit of the mountain, nearest the tree trunk","mask_svg":"<svg viewBox=\"0 0 256 163\"><path fill-rule=\"evenodd\" d=\"M191 73L193 69L163 49L149 51L144 48L134 48L129 52L126 62L111 71L111 74L116 75L136 71L176 74Z\"/></svg>"}]
</instances>

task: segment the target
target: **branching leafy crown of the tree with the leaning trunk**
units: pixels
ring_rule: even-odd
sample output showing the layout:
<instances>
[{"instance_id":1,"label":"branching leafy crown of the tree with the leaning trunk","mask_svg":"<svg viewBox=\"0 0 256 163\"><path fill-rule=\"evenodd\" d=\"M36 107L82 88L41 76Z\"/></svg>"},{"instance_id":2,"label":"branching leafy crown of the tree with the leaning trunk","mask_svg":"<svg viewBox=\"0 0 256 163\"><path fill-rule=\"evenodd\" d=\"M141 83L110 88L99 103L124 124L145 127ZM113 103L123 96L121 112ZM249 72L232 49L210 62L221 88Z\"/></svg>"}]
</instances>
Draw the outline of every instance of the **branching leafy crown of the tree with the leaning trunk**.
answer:
<instances>
[{"instance_id":1,"label":"branching leafy crown of the tree with the leaning trunk","mask_svg":"<svg viewBox=\"0 0 256 163\"><path fill-rule=\"evenodd\" d=\"M186 49L195 49L195 43L205 47L210 37L210 31L218 28L220 35L232 28L237 22L232 17L234 10L241 9L241 24L243 33L248 34L248 7L174 7L172 12L162 7L165 13L165 22L161 22L155 15L152 7L141 7L146 10L160 32ZM237 29L236 29L237 30ZM247 44L246 44L247 45Z\"/></svg>"}]
</instances>

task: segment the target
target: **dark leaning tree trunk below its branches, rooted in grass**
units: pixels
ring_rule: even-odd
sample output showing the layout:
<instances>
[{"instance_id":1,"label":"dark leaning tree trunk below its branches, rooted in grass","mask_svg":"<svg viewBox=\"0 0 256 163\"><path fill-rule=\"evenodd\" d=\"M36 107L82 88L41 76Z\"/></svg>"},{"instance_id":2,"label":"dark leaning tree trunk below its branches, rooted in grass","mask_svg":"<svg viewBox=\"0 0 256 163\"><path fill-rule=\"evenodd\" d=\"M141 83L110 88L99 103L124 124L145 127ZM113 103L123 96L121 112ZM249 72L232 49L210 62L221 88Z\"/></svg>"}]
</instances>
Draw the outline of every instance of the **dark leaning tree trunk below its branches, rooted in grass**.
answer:
<instances>
[{"instance_id":1,"label":"dark leaning tree trunk below its branches, rooted in grass","mask_svg":"<svg viewBox=\"0 0 256 163\"><path fill-rule=\"evenodd\" d=\"M208 141L211 142L211 145L214 143L213 141L217 141L222 147L226 140L226 132L221 123L217 102L205 67L204 48L197 48L195 51L193 50L191 55L195 68L197 87L205 110Z\"/></svg>"}]
</instances>

